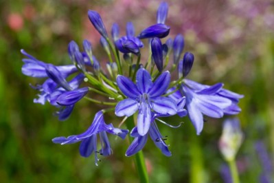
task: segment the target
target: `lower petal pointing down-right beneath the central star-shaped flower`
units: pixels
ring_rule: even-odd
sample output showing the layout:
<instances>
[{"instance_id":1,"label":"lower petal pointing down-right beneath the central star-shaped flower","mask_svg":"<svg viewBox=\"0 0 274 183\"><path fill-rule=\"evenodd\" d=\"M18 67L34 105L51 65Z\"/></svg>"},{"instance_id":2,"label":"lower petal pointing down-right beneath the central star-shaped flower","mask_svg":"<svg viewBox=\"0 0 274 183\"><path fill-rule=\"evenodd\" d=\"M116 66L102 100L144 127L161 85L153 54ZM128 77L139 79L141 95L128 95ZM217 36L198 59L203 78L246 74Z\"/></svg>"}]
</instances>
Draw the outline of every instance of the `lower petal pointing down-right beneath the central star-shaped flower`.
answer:
<instances>
[{"instance_id":1,"label":"lower petal pointing down-right beneath the central star-shaped flower","mask_svg":"<svg viewBox=\"0 0 274 183\"><path fill-rule=\"evenodd\" d=\"M162 140L161 133L155 122L152 122L149 130L150 138L153 140L155 145L161 150L161 152L166 156L171 156L168 146L165 144L165 141Z\"/></svg>"}]
</instances>

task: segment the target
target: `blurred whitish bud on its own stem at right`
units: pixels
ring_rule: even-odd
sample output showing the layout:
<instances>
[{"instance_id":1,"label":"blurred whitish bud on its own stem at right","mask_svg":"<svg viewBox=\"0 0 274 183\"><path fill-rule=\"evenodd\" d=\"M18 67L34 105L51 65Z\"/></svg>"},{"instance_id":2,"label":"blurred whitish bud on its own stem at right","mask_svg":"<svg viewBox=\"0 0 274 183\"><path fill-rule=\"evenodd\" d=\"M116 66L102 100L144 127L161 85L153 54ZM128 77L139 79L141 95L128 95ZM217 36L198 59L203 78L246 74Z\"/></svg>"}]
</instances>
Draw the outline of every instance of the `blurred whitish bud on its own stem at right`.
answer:
<instances>
[{"instance_id":1,"label":"blurred whitish bud on its own stem at right","mask_svg":"<svg viewBox=\"0 0 274 183\"><path fill-rule=\"evenodd\" d=\"M219 140L219 149L228 162L234 160L244 135L240 129L240 121L237 118L225 120L222 127L222 136Z\"/></svg>"}]
</instances>

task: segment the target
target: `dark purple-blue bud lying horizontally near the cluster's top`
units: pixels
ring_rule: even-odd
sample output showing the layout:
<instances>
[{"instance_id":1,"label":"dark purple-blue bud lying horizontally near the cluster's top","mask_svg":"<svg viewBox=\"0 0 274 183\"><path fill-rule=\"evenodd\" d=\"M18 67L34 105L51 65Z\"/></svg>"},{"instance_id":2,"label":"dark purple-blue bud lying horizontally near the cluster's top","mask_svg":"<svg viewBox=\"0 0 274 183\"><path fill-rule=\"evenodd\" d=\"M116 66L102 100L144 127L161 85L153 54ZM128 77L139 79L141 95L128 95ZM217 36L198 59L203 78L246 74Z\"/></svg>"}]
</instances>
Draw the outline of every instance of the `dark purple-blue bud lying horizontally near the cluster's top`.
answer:
<instances>
[{"instance_id":1,"label":"dark purple-blue bud lying horizontally near the cluster's top","mask_svg":"<svg viewBox=\"0 0 274 183\"><path fill-rule=\"evenodd\" d=\"M170 27L168 25L165 25L163 23L157 23L143 30L137 37L139 39L154 38L154 37L164 38L165 36L168 36L169 33L170 33Z\"/></svg>"}]
</instances>

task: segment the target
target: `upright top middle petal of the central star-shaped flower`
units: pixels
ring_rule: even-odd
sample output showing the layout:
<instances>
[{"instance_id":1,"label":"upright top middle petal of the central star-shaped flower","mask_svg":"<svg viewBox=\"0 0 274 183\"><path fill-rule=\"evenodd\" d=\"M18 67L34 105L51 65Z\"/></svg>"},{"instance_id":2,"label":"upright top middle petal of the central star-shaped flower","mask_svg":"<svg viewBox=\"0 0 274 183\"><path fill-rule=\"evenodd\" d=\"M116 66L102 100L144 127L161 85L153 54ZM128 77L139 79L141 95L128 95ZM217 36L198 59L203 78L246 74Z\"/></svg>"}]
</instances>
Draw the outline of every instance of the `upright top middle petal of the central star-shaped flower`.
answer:
<instances>
[{"instance_id":1,"label":"upright top middle petal of the central star-shaped flower","mask_svg":"<svg viewBox=\"0 0 274 183\"><path fill-rule=\"evenodd\" d=\"M146 69L141 68L137 71L136 85L141 94L148 93L149 89L152 87L153 83L151 76Z\"/></svg>"}]
</instances>

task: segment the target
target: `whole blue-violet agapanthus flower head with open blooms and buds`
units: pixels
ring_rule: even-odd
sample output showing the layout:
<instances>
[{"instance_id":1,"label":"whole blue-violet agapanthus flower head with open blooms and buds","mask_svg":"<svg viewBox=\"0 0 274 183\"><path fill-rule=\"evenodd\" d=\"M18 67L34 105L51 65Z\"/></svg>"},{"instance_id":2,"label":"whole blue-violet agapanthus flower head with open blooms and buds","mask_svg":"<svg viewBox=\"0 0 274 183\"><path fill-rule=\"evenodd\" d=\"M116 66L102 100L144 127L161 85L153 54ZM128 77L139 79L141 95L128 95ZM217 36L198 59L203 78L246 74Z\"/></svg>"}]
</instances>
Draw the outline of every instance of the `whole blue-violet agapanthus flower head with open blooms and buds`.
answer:
<instances>
[{"instance_id":1,"label":"whole blue-violet agapanthus flower head with open blooms and buds","mask_svg":"<svg viewBox=\"0 0 274 183\"><path fill-rule=\"evenodd\" d=\"M118 129L112 124L107 125L103 114L114 111L116 116L127 118L138 111L137 125L130 129L130 136L135 139L128 147L126 156L140 151L146 144L148 136L164 155L170 156L168 145L165 144L165 139L157 127L156 120L163 122L159 117L188 115L196 133L200 134L204 123L203 115L221 118L225 114L233 115L240 112L238 101L242 95L223 89L222 83L209 86L185 78L192 68L194 55L185 52L181 59L184 47L181 34L178 34L173 41L167 39L165 43L162 43L161 39L168 36L170 32L170 27L165 25L167 15L168 4L163 2L157 10L155 25L151 25L135 36L133 23L129 22L126 25L126 36L120 37L119 26L114 23L111 30L112 39L110 39L100 14L89 10L89 19L101 34L100 42L109 56L109 63L106 64L107 73L93 55L91 43L87 40L82 43L84 51L80 51L76 42L69 43L68 53L73 62L72 65L55 66L44 63L21 50L28 57L23 58L23 74L47 78L43 85L34 87L41 92L38 98L34 99L34 103L44 105L49 102L58 107L56 115L59 120L69 118L74 105L82 98L92 103L115 106L98 111L91 126L84 133L67 138L54 138L52 140L54 143L71 144L81 141L80 154L88 157L94 152L95 164L97 164L97 153L107 156L112 152L106 132L123 139L129 132L128 129ZM141 41L144 39L148 39L150 54L147 63L143 65L140 62L140 50L144 47ZM178 71L178 79L174 81L170 81L170 72L167 70L171 53L173 53L173 63L170 71L173 72L176 68ZM76 76L67 81L71 74ZM134 83L135 80L136 83ZM80 87L82 81L89 83L89 87ZM105 96L106 100L90 98L89 92ZM166 122L163 123L174 127ZM102 144L102 149L99 151L97 150L98 134Z\"/></svg>"}]
</instances>

